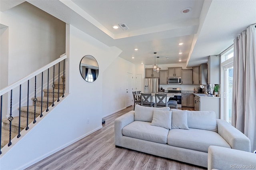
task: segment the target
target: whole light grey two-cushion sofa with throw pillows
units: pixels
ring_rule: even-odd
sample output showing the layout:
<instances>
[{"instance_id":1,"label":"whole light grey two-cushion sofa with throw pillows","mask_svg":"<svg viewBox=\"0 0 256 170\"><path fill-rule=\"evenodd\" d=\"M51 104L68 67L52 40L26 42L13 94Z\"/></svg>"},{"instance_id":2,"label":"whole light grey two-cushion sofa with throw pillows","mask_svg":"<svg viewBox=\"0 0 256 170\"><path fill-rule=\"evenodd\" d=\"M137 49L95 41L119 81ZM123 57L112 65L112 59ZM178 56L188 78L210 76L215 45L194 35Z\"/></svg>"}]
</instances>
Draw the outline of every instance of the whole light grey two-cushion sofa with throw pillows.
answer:
<instances>
[{"instance_id":1,"label":"whole light grey two-cushion sofa with throw pillows","mask_svg":"<svg viewBox=\"0 0 256 170\"><path fill-rule=\"evenodd\" d=\"M213 111L135 106L114 122L116 147L207 168L209 146L250 152L250 140Z\"/></svg>"}]
</instances>

